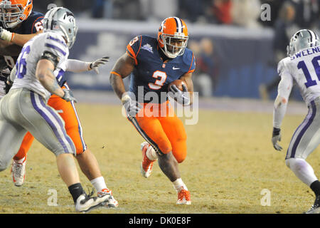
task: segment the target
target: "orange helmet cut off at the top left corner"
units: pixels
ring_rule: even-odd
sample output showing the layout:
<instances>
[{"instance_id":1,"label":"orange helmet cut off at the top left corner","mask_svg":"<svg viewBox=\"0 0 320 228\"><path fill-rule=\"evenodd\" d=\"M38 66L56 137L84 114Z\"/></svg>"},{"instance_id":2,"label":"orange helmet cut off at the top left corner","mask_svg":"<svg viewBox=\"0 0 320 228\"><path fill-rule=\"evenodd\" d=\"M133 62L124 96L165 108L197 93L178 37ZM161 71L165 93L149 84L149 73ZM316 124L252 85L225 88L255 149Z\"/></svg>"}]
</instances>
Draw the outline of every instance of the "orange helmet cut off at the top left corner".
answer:
<instances>
[{"instance_id":1,"label":"orange helmet cut off at the top left corner","mask_svg":"<svg viewBox=\"0 0 320 228\"><path fill-rule=\"evenodd\" d=\"M0 2L0 21L5 28L14 28L28 18L32 7L32 0L3 0Z\"/></svg>"}]
</instances>

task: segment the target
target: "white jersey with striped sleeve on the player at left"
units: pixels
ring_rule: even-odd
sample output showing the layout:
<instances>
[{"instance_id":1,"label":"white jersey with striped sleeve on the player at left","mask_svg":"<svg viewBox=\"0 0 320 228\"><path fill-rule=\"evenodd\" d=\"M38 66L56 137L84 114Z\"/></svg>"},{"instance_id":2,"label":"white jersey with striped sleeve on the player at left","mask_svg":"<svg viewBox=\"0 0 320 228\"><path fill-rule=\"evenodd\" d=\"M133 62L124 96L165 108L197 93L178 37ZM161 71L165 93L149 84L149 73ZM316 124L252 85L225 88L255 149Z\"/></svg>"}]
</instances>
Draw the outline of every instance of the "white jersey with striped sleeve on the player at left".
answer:
<instances>
[{"instance_id":1,"label":"white jersey with striped sleeve on the player at left","mask_svg":"<svg viewBox=\"0 0 320 228\"><path fill-rule=\"evenodd\" d=\"M50 97L50 92L44 88L36 78L36 67L44 51L53 53L58 57L59 63L54 75L58 82L63 78L68 61L69 49L63 36L55 31L48 31L31 38L22 48L16 62L16 78L13 88L28 88L41 95L45 100Z\"/></svg>"}]
</instances>

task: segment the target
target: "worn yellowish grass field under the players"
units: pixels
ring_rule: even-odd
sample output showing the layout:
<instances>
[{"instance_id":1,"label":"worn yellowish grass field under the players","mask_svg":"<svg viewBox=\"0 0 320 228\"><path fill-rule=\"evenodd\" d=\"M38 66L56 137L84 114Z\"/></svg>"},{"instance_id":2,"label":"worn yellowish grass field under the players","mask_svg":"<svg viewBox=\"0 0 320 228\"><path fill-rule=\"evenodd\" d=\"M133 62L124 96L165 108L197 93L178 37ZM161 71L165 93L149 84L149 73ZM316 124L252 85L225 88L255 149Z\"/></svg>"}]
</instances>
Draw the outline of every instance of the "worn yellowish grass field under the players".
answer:
<instances>
[{"instance_id":1,"label":"worn yellowish grass field under the players","mask_svg":"<svg viewBox=\"0 0 320 228\"><path fill-rule=\"evenodd\" d=\"M186 125L188 156L179 166L191 191L191 205L176 205L176 191L159 165L148 179L140 175L143 139L119 105L78 104L88 147L95 153L107 186L119 201L116 209L92 213L302 213L314 201L309 187L286 167L284 156L303 115L287 115L282 126L283 152L273 149L271 113L201 110L197 125ZM309 163L319 175L319 149ZM80 171L80 170L79 170ZM82 173L82 185L91 188ZM58 206L48 206L50 189ZM270 206L262 206L262 190ZM38 142L28 153L26 182L14 187L10 167L0 173L0 213L74 213L68 188L60 179L55 156Z\"/></svg>"}]
</instances>

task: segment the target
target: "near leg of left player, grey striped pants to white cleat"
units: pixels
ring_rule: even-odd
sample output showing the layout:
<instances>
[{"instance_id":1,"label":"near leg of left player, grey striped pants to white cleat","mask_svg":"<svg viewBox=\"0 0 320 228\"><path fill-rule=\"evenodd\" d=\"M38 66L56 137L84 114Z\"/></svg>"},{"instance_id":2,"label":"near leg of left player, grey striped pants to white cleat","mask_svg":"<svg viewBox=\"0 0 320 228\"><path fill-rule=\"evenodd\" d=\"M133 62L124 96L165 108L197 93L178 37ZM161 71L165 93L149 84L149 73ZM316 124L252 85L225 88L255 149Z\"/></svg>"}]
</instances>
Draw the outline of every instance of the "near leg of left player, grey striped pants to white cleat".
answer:
<instances>
[{"instance_id":1,"label":"near leg of left player, grey striped pants to white cleat","mask_svg":"<svg viewBox=\"0 0 320 228\"><path fill-rule=\"evenodd\" d=\"M21 115L18 123L56 156L58 172L67 185L78 212L105 204L109 197L88 197L82 189L78 170L73 159L75 145L65 131L65 123L58 113L44 103L37 93L20 90L18 97Z\"/></svg>"}]
</instances>

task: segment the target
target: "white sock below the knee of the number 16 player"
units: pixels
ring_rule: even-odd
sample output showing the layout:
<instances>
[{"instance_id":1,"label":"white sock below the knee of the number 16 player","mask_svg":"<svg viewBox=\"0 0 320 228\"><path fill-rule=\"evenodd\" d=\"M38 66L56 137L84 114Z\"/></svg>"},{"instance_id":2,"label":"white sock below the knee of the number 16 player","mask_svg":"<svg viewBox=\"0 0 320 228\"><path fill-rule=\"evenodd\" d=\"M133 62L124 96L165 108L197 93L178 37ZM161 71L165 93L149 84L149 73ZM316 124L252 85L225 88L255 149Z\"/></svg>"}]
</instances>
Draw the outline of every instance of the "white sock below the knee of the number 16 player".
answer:
<instances>
[{"instance_id":1,"label":"white sock below the knee of the number 16 player","mask_svg":"<svg viewBox=\"0 0 320 228\"><path fill-rule=\"evenodd\" d=\"M314 175L314 169L306 160L302 158L289 158L286 160L287 166L304 184L310 186L311 183L318 180Z\"/></svg>"}]
</instances>

